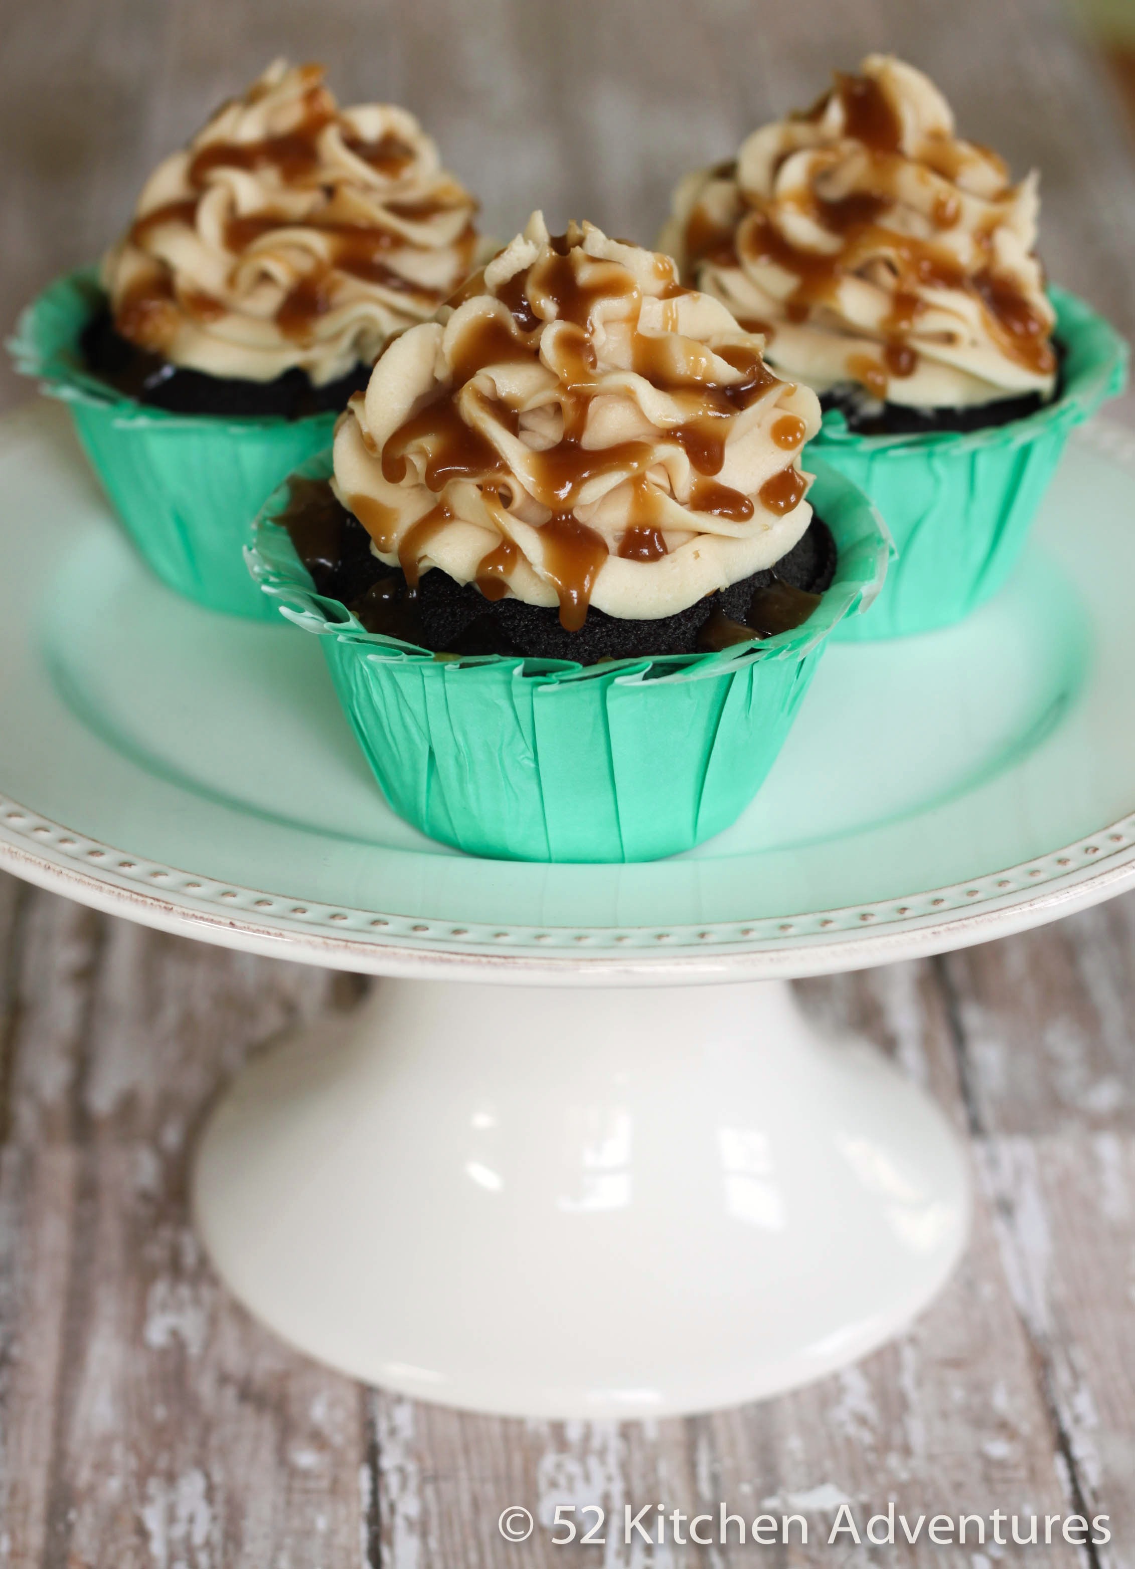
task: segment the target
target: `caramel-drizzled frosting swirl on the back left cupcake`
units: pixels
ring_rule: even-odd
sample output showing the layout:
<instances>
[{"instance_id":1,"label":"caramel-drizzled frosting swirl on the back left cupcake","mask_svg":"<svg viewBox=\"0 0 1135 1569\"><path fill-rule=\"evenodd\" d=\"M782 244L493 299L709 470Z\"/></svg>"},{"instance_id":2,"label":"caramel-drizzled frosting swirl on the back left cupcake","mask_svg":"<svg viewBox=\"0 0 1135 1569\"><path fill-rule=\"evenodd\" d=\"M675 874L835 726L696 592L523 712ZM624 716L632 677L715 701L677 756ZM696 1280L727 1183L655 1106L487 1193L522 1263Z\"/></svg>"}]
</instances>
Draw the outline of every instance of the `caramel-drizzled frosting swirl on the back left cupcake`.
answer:
<instances>
[{"instance_id":1,"label":"caramel-drizzled frosting swirl on the back left cupcake","mask_svg":"<svg viewBox=\"0 0 1135 1569\"><path fill-rule=\"evenodd\" d=\"M146 182L103 262L118 331L176 366L323 384L467 275L477 204L403 108L273 64Z\"/></svg>"}]
</instances>

